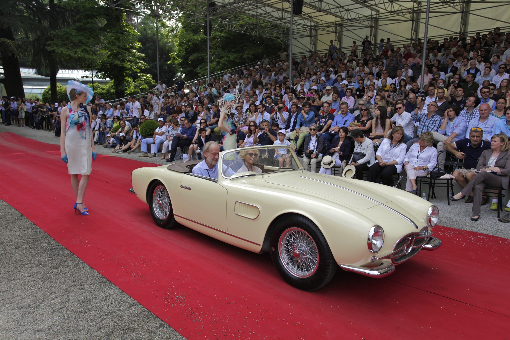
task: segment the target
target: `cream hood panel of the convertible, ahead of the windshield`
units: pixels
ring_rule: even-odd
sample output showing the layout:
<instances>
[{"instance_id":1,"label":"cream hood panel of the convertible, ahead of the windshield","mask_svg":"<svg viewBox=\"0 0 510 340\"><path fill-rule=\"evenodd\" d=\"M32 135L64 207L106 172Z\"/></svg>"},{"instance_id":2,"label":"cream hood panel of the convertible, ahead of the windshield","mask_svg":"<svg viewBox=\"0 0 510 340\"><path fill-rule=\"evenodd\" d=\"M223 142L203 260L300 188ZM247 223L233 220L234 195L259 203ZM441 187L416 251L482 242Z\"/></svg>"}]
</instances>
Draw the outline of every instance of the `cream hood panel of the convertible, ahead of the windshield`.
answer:
<instances>
[{"instance_id":1,"label":"cream hood panel of the convertible, ahead of the windshield","mask_svg":"<svg viewBox=\"0 0 510 340\"><path fill-rule=\"evenodd\" d=\"M379 203L391 202L387 196L361 188L356 181L344 177L302 172L296 176L296 172L289 171L266 176L266 182L286 186L308 192L313 196L320 194L330 200L348 205L355 210L365 210Z\"/></svg>"}]
</instances>

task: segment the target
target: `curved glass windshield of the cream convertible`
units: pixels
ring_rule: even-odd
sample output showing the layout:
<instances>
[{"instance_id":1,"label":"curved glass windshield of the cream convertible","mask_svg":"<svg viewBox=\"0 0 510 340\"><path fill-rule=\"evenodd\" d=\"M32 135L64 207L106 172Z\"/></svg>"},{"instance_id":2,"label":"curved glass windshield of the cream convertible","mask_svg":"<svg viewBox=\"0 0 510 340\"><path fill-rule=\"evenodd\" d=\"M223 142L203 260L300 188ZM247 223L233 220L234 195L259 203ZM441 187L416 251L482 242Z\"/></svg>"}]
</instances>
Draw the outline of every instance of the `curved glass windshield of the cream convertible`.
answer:
<instances>
[{"instance_id":1,"label":"curved glass windshield of the cream convertible","mask_svg":"<svg viewBox=\"0 0 510 340\"><path fill-rule=\"evenodd\" d=\"M221 162L223 176L227 178L303 169L294 150L283 145L227 151Z\"/></svg>"}]
</instances>

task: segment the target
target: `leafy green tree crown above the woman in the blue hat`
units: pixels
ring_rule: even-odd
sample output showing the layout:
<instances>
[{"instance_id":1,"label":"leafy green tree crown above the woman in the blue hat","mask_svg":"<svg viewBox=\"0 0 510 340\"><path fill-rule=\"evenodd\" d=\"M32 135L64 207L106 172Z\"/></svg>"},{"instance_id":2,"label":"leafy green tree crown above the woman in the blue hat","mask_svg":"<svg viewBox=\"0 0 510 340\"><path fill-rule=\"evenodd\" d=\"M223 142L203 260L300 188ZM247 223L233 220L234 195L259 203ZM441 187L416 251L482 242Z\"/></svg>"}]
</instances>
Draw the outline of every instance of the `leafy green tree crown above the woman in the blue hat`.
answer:
<instances>
[{"instance_id":1,"label":"leafy green tree crown above the woman in the blue hat","mask_svg":"<svg viewBox=\"0 0 510 340\"><path fill-rule=\"evenodd\" d=\"M114 96L123 97L140 69L147 65L138 53L138 33L126 22L122 10L94 0L67 0L72 23L52 33L49 50L59 59L74 61L85 70L95 69L103 79L113 82ZM93 15L91 15L93 13Z\"/></svg>"}]
</instances>

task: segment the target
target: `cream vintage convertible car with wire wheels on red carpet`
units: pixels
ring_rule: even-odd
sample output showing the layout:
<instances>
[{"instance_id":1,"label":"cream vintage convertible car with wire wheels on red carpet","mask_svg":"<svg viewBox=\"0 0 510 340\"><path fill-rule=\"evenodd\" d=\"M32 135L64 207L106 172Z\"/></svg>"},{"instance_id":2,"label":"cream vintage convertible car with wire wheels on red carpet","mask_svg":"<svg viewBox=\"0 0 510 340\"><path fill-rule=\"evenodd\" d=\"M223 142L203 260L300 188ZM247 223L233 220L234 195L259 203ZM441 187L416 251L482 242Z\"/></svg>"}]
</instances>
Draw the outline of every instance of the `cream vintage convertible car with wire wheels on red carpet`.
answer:
<instances>
[{"instance_id":1,"label":"cream vintage convertible car with wire wheels on red carpet","mask_svg":"<svg viewBox=\"0 0 510 340\"><path fill-rule=\"evenodd\" d=\"M290 156L284 167L275 158L278 148ZM290 147L220 152L218 179L193 174L198 162L136 169L130 191L162 228L182 224L249 251L269 251L278 272L299 289L319 289L338 266L385 277L420 250L441 246L432 237L435 205L388 186L306 171Z\"/></svg>"}]
</instances>

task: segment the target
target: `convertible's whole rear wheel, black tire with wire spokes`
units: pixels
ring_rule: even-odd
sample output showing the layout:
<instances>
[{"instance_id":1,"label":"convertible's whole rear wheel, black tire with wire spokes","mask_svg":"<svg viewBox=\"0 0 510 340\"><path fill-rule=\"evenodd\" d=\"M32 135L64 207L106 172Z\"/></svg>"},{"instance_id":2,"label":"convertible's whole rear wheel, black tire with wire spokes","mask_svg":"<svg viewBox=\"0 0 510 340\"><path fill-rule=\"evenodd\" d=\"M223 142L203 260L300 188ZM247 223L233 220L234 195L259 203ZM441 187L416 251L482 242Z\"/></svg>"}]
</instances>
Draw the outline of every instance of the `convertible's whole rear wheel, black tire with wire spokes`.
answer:
<instances>
[{"instance_id":1,"label":"convertible's whole rear wheel, black tire with wire spokes","mask_svg":"<svg viewBox=\"0 0 510 340\"><path fill-rule=\"evenodd\" d=\"M157 195L155 195L156 190L158 190ZM155 203L155 200L158 199L158 195L160 196L159 202ZM161 181L156 180L150 185L147 195L147 203L149 204L150 215L152 215L152 219L158 226L163 229L171 229L179 225L173 217L170 195ZM156 206L159 205L161 208L155 208L155 204Z\"/></svg>"}]
</instances>

